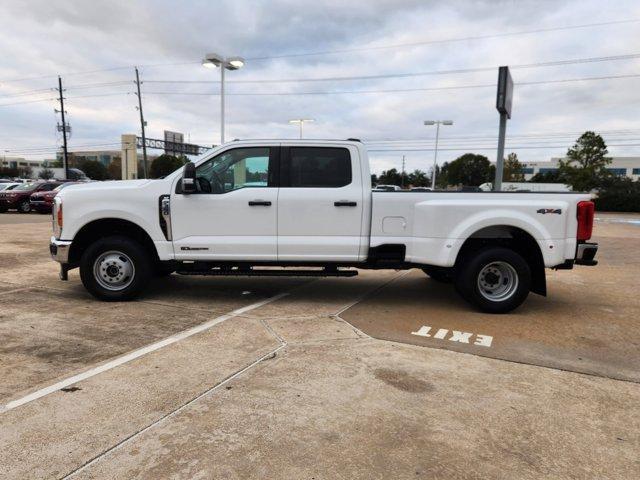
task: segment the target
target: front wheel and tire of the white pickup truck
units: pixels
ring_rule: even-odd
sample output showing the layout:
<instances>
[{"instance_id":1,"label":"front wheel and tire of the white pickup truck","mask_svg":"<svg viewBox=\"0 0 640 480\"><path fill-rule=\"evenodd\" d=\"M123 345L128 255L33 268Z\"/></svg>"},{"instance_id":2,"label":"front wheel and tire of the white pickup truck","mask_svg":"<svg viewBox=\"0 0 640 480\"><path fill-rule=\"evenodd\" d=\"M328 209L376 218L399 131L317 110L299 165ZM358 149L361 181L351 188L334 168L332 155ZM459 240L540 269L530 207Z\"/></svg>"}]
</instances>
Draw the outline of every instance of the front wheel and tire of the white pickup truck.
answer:
<instances>
[{"instance_id":1,"label":"front wheel and tire of the white pickup truck","mask_svg":"<svg viewBox=\"0 0 640 480\"><path fill-rule=\"evenodd\" d=\"M84 287L94 297L109 302L138 296L151 273L151 261L142 245L123 236L95 241L80 259Z\"/></svg>"}]
</instances>

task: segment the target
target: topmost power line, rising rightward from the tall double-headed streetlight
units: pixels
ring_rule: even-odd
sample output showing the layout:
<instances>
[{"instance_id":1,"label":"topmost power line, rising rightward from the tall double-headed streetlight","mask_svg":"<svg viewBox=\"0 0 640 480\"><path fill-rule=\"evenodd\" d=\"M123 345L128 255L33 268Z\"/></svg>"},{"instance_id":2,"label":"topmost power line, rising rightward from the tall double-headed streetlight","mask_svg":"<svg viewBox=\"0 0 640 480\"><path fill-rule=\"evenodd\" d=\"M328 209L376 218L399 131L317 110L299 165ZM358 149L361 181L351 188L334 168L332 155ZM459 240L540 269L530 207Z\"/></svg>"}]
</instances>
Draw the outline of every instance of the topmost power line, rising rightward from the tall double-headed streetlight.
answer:
<instances>
[{"instance_id":1,"label":"topmost power line, rising rightward from the tall double-headed streetlight","mask_svg":"<svg viewBox=\"0 0 640 480\"><path fill-rule=\"evenodd\" d=\"M512 37L517 35L529 35L533 33L547 33L547 32L556 32L561 30L576 30L581 28L591 28L591 27L603 27L607 25L621 25L625 23L636 23L640 22L640 18L634 19L626 19L626 20L612 20L609 22L598 22L598 23L585 23L580 25L566 25L563 27L547 27L547 28L537 28L533 30L520 30L516 32L503 32L503 33L494 33L487 35L474 35L469 37L453 37L446 39L434 39L434 40L423 40L419 42L410 42L410 43L397 43L393 45L371 45L367 47L354 47L354 48L342 48L337 50L324 50L318 52L306 52L306 53L289 53L283 55L270 55L263 57L248 57L246 60L256 61L256 60L272 60L279 58L295 58L295 57L311 57L311 56L320 56L320 55L333 55L339 53L355 53L355 52L365 52L365 51L375 51L375 50L388 50L394 48L408 48L408 47L418 47L422 45L435 45L441 43L453 43L453 42L465 42L470 40L486 40L490 38L503 38L503 37Z\"/></svg>"}]
</instances>

